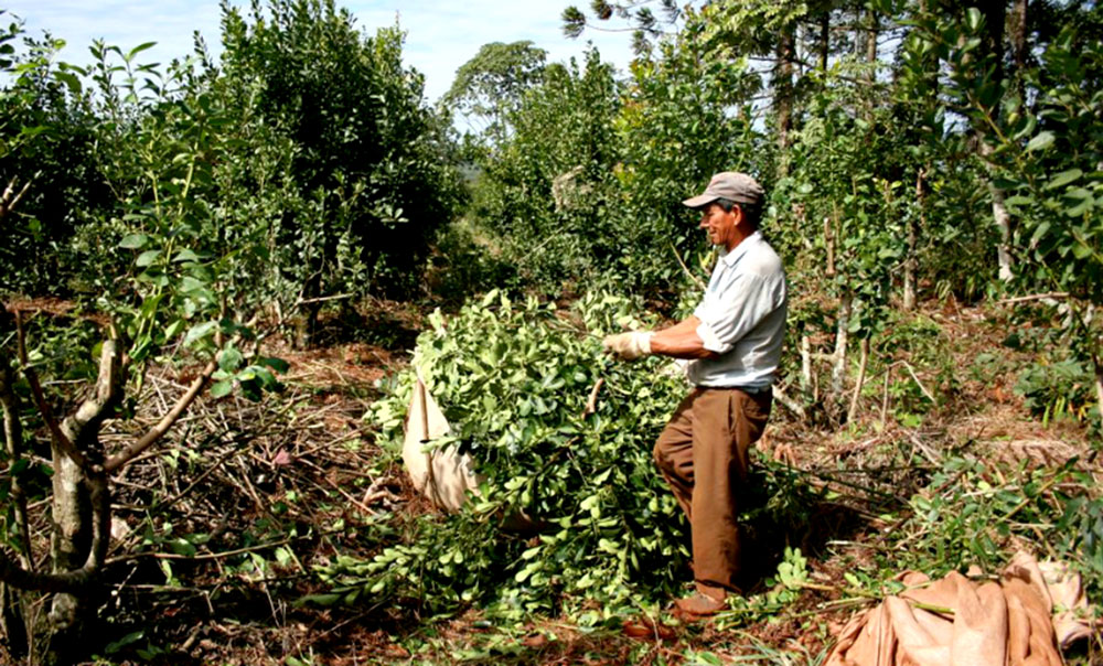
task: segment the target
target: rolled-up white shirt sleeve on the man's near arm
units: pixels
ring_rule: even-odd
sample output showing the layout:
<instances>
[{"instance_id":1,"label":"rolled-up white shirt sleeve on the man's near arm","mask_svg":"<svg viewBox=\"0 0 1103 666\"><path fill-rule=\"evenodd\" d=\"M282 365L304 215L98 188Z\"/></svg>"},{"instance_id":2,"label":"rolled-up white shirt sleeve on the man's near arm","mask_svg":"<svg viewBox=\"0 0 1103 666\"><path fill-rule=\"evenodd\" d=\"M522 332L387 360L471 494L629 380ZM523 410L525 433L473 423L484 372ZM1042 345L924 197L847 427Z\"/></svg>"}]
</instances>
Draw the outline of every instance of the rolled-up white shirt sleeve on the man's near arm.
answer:
<instances>
[{"instance_id":1,"label":"rolled-up white shirt sleeve on the man's near arm","mask_svg":"<svg viewBox=\"0 0 1103 666\"><path fill-rule=\"evenodd\" d=\"M707 294L694 311L700 325L697 335L705 348L717 354L730 351L739 340L770 314L783 294L769 277L737 276L720 292Z\"/></svg>"}]
</instances>

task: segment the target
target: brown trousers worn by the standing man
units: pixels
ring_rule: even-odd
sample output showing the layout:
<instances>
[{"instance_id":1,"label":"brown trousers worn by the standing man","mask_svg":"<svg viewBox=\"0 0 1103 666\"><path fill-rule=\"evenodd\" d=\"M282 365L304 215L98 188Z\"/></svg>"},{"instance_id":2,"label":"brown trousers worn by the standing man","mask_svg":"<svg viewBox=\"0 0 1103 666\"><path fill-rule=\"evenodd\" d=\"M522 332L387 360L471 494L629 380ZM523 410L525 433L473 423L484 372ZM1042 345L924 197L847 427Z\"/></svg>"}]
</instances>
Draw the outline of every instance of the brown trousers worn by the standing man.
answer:
<instances>
[{"instance_id":1,"label":"brown trousers worn by the standing man","mask_svg":"<svg viewBox=\"0 0 1103 666\"><path fill-rule=\"evenodd\" d=\"M655 463L686 512L698 589L738 592L738 487L770 417L770 391L695 388L655 442ZM711 589L711 590L709 590Z\"/></svg>"}]
</instances>

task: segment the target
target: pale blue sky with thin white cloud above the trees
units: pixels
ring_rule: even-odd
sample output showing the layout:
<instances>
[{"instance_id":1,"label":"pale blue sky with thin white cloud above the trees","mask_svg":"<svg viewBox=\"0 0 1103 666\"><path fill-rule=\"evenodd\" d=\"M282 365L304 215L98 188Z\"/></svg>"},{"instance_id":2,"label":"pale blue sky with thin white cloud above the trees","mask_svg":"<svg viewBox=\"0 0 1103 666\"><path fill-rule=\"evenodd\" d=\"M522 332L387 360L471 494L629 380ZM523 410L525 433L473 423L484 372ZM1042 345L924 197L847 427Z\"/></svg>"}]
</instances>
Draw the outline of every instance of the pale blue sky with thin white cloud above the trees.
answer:
<instances>
[{"instance_id":1,"label":"pale blue sky with thin white cloud above the trees","mask_svg":"<svg viewBox=\"0 0 1103 666\"><path fill-rule=\"evenodd\" d=\"M233 0L234 6L248 2ZM579 57L592 41L603 61L622 72L631 60L631 37L624 32L587 30L568 40L560 29L560 14L571 0L338 0L349 9L367 34L394 25L397 17L406 31L403 57L426 77L426 98L436 101L452 84L456 69L490 42L529 40L548 52L548 62ZM586 8L589 3L575 0ZM140 62L168 63L192 51L192 33L199 31L212 53L221 52L218 0L0 0L0 25L21 18L33 36L49 31L65 40L58 60L87 64L88 46L103 39L124 52L144 42L157 46Z\"/></svg>"}]
</instances>

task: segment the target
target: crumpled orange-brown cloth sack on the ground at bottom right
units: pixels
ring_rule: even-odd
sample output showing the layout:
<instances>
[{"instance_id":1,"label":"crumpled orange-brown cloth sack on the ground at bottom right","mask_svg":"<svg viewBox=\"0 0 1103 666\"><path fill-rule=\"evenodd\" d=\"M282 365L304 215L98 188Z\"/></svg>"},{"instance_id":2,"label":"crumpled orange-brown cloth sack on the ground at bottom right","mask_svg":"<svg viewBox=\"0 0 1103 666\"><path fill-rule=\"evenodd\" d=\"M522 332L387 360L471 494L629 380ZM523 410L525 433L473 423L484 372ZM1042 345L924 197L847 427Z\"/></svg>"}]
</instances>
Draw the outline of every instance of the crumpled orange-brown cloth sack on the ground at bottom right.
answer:
<instances>
[{"instance_id":1,"label":"crumpled orange-brown cloth sack on the ground at bottom right","mask_svg":"<svg viewBox=\"0 0 1103 666\"><path fill-rule=\"evenodd\" d=\"M1018 554L998 582L952 572L908 587L853 617L826 666L1061 666L1060 646L1092 627L1080 577Z\"/></svg>"}]
</instances>

